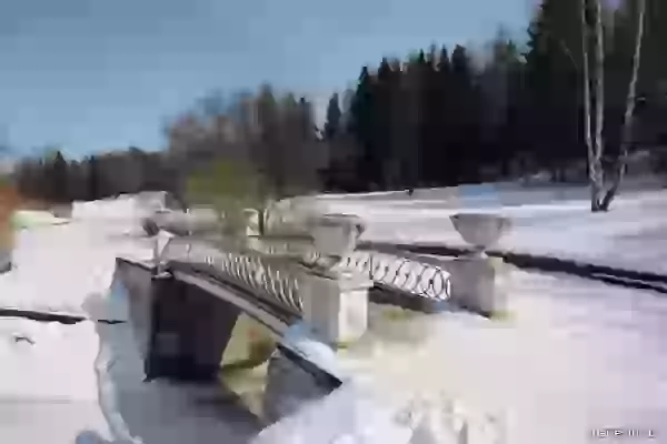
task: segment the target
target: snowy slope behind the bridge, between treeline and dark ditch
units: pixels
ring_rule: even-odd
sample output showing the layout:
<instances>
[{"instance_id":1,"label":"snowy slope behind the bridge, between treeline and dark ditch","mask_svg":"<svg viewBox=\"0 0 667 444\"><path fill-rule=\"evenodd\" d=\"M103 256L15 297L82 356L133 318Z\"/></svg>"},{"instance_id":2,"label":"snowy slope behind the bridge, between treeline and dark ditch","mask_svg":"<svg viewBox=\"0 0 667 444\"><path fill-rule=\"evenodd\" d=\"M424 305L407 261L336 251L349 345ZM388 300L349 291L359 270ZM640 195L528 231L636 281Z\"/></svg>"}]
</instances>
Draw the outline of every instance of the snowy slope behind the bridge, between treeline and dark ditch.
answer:
<instances>
[{"instance_id":1,"label":"snowy slope behind the bridge, between treeline and dark ditch","mask_svg":"<svg viewBox=\"0 0 667 444\"><path fill-rule=\"evenodd\" d=\"M368 221L362 240L466 246L449 216L491 212L511 219L497 248L599 265L667 274L667 190L621 194L608 213L591 213L585 189L417 190L391 199L328 196L331 211Z\"/></svg>"}]
</instances>

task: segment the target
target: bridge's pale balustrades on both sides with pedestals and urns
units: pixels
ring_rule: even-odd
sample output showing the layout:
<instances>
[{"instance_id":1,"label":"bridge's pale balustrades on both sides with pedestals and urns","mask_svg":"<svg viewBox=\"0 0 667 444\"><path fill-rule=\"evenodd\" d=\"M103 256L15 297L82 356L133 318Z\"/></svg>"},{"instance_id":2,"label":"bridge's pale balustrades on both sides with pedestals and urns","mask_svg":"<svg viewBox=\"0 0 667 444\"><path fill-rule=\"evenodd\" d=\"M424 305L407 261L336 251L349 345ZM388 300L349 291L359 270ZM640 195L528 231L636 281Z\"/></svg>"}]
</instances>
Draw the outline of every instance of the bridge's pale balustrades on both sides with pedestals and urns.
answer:
<instances>
[{"instance_id":1,"label":"bridge's pale balustrades on both sides with pedestals and urns","mask_svg":"<svg viewBox=\"0 0 667 444\"><path fill-rule=\"evenodd\" d=\"M374 285L434 301L450 300L484 315L505 310L506 295L497 285L497 270L484 253L508 229L509 222L504 218L452 216L455 228L472 245L474 253L429 261L357 251L365 223L355 215L311 214L301 221L301 228L308 228L309 233L297 234L299 230L293 230L291 235L268 236L257 232L257 211L247 210L245 215L245 236L220 238L215 242L173 238L162 249L161 262L189 263L259 297L278 302L292 313L321 324L316 330L332 343L347 342L364 333L364 323L359 321L364 314L342 316L341 313L350 313L351 306L365 313L368 289ZM322 294L327 296L323 299ZM358 301L361 302L357 304ZM331 320L326 321L327 317Z\"/></svg>"}]
</instances>

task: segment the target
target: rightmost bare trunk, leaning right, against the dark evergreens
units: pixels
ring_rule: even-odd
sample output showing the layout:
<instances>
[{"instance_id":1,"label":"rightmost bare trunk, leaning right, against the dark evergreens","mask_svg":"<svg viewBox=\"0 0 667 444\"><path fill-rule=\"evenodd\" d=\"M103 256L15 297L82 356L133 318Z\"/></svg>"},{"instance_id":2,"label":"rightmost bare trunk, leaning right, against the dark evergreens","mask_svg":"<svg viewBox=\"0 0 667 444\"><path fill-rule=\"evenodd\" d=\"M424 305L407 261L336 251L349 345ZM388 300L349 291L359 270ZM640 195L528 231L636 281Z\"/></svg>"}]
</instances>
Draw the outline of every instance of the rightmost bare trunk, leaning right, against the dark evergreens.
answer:
<instances>
[{"instance_id":1,"label":"rightmost bare trunk, leaning right, against the dark evergreens","mask_svg":"<svg viewBox=\"0 0 667 444\"><path fill-rule=\"evenodd\" d=\"M605 199L603 199L601 210L609 210L609 204L616 196L618 188L623 182L628 160L628 148L633 140L635 103L637 101L637 79L639 78L639 65L641 63L641 41L644 39L644 17L646 16L646 0L639 1L639 12L637 14L637 33L635 36L635 54L633 57L633 75L628 85L628 97L626 99L626 110L623 122L623 134L620 139L620 152L615 163L616 176Z\"/></svg>"}]
</instances>

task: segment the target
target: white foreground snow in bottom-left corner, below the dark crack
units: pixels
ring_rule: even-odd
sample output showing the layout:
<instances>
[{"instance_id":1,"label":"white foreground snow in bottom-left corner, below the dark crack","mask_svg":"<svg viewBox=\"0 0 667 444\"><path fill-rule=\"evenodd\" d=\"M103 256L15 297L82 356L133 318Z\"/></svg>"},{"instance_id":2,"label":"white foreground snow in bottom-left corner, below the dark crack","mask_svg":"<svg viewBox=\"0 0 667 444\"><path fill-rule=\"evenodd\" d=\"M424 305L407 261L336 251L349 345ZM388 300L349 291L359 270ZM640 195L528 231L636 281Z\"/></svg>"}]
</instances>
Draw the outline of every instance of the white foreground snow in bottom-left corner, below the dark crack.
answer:
<instances>
[{"instance_id":1,"label":"white foreground snow in bottom-left corner, below the dark crack","mask_svg":"<svg viewBox=\"0 0 667 444\"><path fill-rule=\"evenodd\" d=\"M91 365L97 353L91 322L0 319L0 442L74 443L83 432L109 438Z\"/></svg>"}]
</instances>

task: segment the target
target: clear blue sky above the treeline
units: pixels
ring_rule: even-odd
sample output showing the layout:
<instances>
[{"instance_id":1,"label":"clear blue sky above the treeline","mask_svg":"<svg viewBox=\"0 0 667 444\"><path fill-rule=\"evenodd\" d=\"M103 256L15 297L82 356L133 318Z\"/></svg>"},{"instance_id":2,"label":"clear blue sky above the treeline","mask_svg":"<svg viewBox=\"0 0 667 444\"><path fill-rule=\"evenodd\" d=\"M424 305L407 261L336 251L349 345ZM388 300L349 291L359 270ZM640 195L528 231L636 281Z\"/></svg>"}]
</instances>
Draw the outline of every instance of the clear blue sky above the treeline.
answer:
<instances>
[{"instance_id":1,"label":"clear blue sky above the treeline","mask_svg":"<svg viewBox=\"0 0 667 444\"><path fill-rule=\"evenodd\" d=\"M21 0L0 13L0 142L69 155L165 145L207 91L316 99L382 54L521 31L527 0Z\"/></svg>"}]
</instances>

